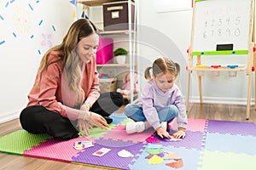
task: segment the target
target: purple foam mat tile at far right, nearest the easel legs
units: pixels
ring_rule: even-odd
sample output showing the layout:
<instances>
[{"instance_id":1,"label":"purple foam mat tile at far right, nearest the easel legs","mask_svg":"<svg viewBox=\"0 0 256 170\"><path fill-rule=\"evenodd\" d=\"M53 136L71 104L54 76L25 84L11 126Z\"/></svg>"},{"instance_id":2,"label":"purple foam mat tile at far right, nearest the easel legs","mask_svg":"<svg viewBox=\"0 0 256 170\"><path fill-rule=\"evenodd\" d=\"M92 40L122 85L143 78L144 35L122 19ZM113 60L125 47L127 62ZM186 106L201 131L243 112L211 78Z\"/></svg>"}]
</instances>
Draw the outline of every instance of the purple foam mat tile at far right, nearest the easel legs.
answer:
<instances>
[{"instance_id":1,"label":"purple foam mat tile at far right, nearest the easel legs","mask_svg":"<svg viewBox=\"0 0 256 170\"><path fill-rule=\"evenodd\" d=\"M208 120L207 132L241 134L243 136L256 136L256 125L253 122Z\"/></svg>"}]
</instances>

